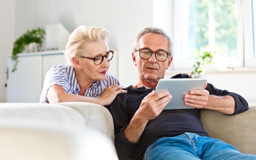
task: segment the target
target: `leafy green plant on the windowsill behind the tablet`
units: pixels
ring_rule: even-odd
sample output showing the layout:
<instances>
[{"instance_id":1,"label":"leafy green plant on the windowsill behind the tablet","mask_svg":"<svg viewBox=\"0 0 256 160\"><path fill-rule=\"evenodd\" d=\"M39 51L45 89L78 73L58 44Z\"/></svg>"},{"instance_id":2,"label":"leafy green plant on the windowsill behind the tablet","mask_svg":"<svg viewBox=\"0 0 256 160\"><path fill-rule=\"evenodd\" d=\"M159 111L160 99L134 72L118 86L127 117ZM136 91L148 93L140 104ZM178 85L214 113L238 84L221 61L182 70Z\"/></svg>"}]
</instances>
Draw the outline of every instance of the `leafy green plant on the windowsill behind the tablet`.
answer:
<instances>
[{"instance_id":1,"label":"leafy green plant on the windowsill behind the tablet","mask_svg":"<svg viewBox=\"0 0 256 160\"><path fill-rule=\"evenodd\" d=\"M203 75L209 67L210 63L212 62L214 55L216 54L219 54L219 52L211 50L209 48L209 45L206 45L205 48L201 48L200 51L196 50L195 57L196 59L198 59L198 61L196 61L196 64L193 65L195 70L192 71L191 74L198 77Z\"/></svg>"}]
</instances>

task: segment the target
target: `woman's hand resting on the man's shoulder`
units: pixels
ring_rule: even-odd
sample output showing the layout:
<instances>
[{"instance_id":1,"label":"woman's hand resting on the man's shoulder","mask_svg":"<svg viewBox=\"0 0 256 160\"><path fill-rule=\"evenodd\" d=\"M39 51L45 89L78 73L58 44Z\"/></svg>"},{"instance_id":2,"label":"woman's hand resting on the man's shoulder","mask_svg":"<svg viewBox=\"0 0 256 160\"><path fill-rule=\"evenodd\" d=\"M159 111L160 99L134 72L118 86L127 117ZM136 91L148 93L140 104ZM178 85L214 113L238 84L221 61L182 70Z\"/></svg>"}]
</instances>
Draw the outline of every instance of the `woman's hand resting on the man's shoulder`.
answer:
<instances>
[{"instance_id":1,"label":"woman's hand resting on the man's shoulder","mask_svg":"<svg viewBox=\"0 0 256 160\"><path fill-rule=\"evenodd\" d=\"M100 98L100 105L102 106L108 106L110 105L113 100L116 98L116 95L119 93L126 93L126 90L122 90L123 87L119 85L110 85L107 88L104 88L103 92L101 93Z\"/></svg>"}]
</instances>

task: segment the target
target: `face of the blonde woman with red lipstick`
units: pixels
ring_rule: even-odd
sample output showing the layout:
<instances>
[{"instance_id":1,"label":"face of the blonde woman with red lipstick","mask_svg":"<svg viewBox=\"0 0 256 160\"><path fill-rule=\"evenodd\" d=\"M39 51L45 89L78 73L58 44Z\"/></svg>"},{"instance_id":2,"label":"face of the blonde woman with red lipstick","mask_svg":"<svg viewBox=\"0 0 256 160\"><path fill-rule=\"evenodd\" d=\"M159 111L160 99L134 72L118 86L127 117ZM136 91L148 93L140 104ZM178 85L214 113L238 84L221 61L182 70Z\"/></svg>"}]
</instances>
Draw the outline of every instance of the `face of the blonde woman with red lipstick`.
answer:
<instances>
[{"instance_id":1,"label":"face of the blonde woman with red lipstick","mask_svg":"<svg viewBox=\"0 0 256 160\"><path fill-rule=\"evenodd\" d=\"M105 56L109 51L108 44L105 40L100 42L92 42L85 46L86 54L84 57L95 58L99 55ZM103 61L99 65L95 65L94 60L82 58L81 71L84 72L84 78L88 80L104 80L107 78L107 71L109 67L109 61L104 57Z\"/></svg>"}]
</instances>

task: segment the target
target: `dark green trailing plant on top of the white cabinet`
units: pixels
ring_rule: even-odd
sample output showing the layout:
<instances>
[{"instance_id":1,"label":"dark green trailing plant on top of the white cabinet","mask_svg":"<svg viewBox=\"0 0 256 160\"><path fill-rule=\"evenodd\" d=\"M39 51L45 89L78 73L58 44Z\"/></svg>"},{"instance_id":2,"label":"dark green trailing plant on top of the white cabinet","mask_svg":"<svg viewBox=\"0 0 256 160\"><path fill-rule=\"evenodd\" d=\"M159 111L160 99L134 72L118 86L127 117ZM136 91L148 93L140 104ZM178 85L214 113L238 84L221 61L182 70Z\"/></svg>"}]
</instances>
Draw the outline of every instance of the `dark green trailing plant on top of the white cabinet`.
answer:
<instances>
[{"instance_id":1,"label":"dark green trailing plant on top of the white cabinet","mask_svg":"<svg viewBox=\"0 0 256 160\"><path fill-rule=\"evenodd\" d=\"M19 62L18 55L19 53L25 50L25 46L31 42L36 42L42 46L44 39L45 31L43 28L38 27L37 29L28 30L26 33L21 35L13 44L12 49L12 61L14 61L12 72L17 70L17 64Z\"/></svg>"}]
</instances>

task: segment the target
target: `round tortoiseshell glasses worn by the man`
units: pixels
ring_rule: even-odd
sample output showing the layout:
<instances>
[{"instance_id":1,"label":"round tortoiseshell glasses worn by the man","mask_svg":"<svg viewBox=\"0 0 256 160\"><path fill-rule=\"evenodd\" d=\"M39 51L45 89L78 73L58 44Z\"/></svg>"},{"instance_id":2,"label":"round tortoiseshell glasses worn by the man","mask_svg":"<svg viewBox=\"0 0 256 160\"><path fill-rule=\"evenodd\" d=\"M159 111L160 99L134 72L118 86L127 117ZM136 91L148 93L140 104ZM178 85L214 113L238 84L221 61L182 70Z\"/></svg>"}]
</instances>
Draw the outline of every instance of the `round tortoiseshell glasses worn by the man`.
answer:
<instances>
[{"instance_id":1,"label":"round tortoiseshell glasses worn by the man","mask_svg":"<svg viewBox=\"0 0 256 160\"><path fill-rule=\"evenodd\" d=\"M171 56L171 54L169 54L169 52L166 52L164 50L158 50L156 52L153 52L148 48L140 48L139 50L137 50L135 52L138 52L138 51L140 51L140 58L143 60L148 60L152 56L152 53L155 53L156 60L161 61L161 62L165 61L167 59L168 55Z\"/></svg>"}]
</instances>

